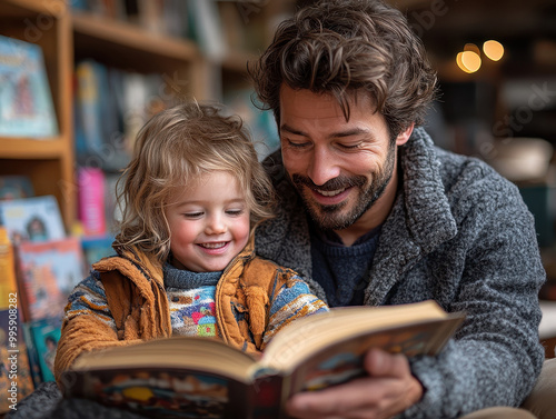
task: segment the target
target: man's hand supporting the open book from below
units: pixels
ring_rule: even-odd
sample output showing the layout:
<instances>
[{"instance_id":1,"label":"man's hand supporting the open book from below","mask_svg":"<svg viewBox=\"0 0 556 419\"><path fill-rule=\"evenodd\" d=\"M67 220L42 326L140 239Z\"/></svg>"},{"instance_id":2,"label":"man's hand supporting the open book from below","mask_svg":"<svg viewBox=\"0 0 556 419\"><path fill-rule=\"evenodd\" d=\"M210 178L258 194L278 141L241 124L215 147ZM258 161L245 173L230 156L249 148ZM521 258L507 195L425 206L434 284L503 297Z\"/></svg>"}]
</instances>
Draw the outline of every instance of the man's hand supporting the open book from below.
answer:
<instances>
[{"instance_id":1,"label":"man's hand supporting the open book from below","mask_svg":"<svg viewBox=\"0 0 556 419\"><path fill-rule=\"evenodd\" d=\"M295 395L288 401L288 413L302 419L386 419L423 397L423 387L401 355L371 349L365 357L365 369L368 377Z\"/></svg>"}]
</instances>

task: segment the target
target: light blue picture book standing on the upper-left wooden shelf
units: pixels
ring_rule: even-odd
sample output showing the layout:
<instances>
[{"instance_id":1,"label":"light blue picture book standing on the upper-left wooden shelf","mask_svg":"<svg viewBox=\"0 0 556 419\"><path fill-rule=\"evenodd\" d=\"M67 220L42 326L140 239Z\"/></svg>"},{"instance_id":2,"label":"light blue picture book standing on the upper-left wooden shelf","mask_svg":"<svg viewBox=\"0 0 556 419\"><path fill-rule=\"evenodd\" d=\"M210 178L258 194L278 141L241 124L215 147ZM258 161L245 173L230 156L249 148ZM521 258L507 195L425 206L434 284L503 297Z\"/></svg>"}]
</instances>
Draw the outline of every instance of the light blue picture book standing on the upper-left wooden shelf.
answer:
<instances>
[{"instance_id":1,"label":"light blue picture book standing on the upper-left wooden shelf","mask_svg":"<svg viewBox=\"0 0 556 419\"><path fill-rule=\"evenodd\" d=\"M0 136L58 134L42 49L0 36Z\"/></svg>"}]
</instances>

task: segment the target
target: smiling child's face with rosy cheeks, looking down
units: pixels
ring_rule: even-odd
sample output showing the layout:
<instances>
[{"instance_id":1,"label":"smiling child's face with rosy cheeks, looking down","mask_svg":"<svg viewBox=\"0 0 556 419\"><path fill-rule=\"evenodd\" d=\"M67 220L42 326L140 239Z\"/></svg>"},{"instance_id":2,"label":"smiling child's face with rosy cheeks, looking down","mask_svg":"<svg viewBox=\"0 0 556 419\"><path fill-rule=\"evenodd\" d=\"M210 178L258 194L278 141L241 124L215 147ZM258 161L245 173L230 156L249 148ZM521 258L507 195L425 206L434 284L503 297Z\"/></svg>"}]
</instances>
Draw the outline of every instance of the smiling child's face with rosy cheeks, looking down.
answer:
<instances>
[{"instance_id":1,"label":"smiling child's face with rosy cheeks, looking down","mask_svg":"<svg viewBox=\"0 0 556 419\"><path fill-rule=\"evenodd\" d=\"M226 171L203 174L173 198L166 217L176 268L224 270L249 239L249 208L236 178Z\"/></svg>"}]
</instances>

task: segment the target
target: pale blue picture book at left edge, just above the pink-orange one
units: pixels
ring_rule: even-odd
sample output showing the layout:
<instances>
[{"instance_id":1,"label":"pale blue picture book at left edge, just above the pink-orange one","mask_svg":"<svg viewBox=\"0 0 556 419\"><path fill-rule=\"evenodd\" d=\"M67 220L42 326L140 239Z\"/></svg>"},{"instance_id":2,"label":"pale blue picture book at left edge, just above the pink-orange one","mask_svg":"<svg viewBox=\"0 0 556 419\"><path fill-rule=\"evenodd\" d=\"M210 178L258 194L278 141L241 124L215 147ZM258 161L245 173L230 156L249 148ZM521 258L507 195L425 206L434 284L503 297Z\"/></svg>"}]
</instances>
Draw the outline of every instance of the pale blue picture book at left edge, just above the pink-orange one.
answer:
<instances>
[{"instance_id":1,"label":"pale blue picture book at left edge, just above the pink-orange one","mask_svg":"<svg viewBox=\"0 0 556 419\"><path fill-rule=\"evenodd\" d=\"M13 245L66 237L60 207L51 194L0 201L0 223Z\"/></svg>"}]
</instances>

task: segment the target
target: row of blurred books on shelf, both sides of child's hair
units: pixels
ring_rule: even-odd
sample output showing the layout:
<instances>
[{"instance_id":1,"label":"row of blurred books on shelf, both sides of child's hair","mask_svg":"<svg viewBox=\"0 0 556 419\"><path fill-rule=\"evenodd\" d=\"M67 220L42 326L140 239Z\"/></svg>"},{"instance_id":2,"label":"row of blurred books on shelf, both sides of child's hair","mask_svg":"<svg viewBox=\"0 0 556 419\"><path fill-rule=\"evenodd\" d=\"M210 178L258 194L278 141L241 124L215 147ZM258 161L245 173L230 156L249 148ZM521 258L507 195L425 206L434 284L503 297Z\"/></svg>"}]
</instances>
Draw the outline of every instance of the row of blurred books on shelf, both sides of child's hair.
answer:
<instances>
[{"instance_id":1,"label":"row of blurred books on shelf, both sides of child's hair","mask_svg":"<svg viewBox=\"0 0 556 419\"><path fill-rule=\"evenodd\" d=\"M75 78L77 161L108 173L127 166L137 132L148 119L186 97L179 91L168 94L160 74L122 71L91 59L76 66ZM245 120L262 158L278 148L278 134L272 113L258 109L251 99L251 89L237 88L228 89L222 102L225 112Z\"/></svg>"}]
</instances>

